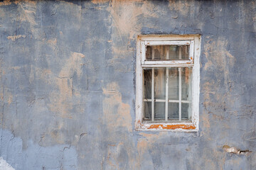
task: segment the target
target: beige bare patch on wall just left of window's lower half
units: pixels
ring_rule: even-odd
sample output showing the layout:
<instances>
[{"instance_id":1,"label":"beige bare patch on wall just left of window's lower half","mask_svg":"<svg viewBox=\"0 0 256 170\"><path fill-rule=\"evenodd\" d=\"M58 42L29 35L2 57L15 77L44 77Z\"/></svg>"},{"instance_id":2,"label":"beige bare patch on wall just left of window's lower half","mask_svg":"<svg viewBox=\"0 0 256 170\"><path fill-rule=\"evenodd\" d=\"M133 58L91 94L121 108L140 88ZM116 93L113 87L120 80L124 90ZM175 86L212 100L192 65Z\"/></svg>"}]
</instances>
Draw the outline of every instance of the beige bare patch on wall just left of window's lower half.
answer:
<instances>
[{"instance_id":1,"label":"beige bare patch on wall just left of window's lower half","mask_svg":"<svg viewBox=\"0 0 256 170\"><path fill-rule=\"evenodd\" d=\"M113 82L103 88L103 113L104 123L109 130L114 130L119 127L127 128L132 131L132 117L130 114L130 106L127 103L122 103L122 94L119 93L119 86Z\"/></svg>"}]
</instances>

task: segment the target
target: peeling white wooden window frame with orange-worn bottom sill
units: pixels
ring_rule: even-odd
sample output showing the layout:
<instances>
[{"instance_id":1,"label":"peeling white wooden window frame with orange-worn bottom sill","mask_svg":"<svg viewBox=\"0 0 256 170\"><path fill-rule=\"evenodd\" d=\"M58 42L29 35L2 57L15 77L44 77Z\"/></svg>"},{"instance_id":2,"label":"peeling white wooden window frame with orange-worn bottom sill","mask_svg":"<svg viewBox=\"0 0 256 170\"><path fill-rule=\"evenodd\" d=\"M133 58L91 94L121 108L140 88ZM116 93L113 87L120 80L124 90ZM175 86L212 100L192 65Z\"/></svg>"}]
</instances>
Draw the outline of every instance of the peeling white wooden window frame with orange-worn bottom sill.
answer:
<instances>
[{"instance_id":1,"label":"peeling white wooden window frame with orange-worn bottom sill","mask_svg":"<svg viewBox=\"0 0 256 170\"><path fill-rule=\"evenodd\" d=\"M190 45L189 60L146 61L147 45ZM136 130L168 130L185 132L198 131L200 93L200 52L201 35L138 35L136 67ZM148 121L143 121L144 98L142 69L147 67L193 67L191 121L166 121L166 123L149 123ZM166 98L166 101L168 102L168 97ZM181 120L181 112L179 113L179 115Z\"/></svg>"}]
</instances>

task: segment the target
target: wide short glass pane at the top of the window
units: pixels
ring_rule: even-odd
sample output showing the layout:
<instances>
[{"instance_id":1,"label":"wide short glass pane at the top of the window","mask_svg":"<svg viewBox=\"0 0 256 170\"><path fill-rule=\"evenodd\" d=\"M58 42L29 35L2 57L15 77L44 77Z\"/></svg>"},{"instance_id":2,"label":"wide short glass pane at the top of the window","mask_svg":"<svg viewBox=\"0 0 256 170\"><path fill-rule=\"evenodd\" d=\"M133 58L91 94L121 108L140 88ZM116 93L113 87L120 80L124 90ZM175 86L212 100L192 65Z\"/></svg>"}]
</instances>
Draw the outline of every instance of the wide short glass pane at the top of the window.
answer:
<instances>
[{"instance_id":1,"label":"wide short glass pane at the top of the window","mask_svg":"<svg viewBox=\"0 0 256 170\"><path fill-rule=\"evenodd\" d=\"M146 46L146 60L189 60L189 45Z\"/></svg>"}]
</instances>

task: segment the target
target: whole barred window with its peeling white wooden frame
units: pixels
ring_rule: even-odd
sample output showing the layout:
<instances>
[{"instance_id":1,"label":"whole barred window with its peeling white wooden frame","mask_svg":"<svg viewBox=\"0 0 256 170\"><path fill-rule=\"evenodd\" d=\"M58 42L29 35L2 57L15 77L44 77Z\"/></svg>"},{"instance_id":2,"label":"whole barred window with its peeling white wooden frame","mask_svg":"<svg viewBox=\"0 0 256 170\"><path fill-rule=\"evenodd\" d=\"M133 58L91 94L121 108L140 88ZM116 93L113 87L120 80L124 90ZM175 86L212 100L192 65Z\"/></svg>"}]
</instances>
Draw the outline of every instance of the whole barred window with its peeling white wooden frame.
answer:
<instances>
[{"instance_id":1,"label":"whole barred window with its peeling white wooden frame","mask_svg":"<svg viewBox=\"0 0 256 170\"><path fill-rule=\"evenodd\" d=\"M200 35L139 35L136 129L197 131Z\"/></svg>"}]
</instances>

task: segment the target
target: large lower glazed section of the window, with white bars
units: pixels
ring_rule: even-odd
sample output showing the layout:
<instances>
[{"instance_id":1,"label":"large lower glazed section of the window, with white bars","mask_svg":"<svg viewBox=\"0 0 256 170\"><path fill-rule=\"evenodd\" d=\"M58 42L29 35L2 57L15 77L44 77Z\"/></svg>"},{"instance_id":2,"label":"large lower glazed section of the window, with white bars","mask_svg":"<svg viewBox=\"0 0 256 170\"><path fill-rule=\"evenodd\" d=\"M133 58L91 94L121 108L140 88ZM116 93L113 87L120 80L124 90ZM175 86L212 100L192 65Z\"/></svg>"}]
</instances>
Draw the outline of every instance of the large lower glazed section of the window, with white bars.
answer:
<instances>
[{"instance_id":1,"label":"large lower glazed section of the window, with white bars","mask_svg":"<svg viewBox=\"0 0 256 170\"><path fill-rule=\"evenodd\" d=\"M154 77L152 75L153 70ZM152 122L159 120L191 120L192 70L193 67L143 69L143 120L147 122L149 120ZM154 86L152 86L152 79L154 79ZM152 95L153 89L154 95ZM181 96L179 96L180 92ZM152 97L154 98L153 104ZM152 107L154 112L152 112ZM181 112L179 111L180 108Z\"/></svg>"}]
</instances>

